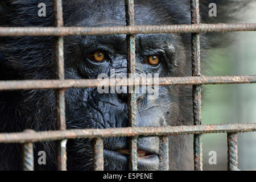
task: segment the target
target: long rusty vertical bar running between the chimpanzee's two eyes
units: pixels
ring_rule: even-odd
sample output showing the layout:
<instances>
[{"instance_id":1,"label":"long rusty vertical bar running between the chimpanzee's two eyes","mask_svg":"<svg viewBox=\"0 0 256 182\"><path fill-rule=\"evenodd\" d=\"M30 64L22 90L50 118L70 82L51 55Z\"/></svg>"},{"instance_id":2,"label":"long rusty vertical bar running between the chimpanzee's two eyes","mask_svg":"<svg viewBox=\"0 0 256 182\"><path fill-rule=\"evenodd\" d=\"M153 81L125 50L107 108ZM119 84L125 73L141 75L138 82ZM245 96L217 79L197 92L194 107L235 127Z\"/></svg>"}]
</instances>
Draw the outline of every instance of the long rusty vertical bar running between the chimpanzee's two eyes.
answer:
<instances>
[{"instance_id":1,"label":"long rusty vertical bar running between the chimpanzee's two eyes","mask_svg":"<svg viewBox=\"0 0 256 182\"><path fill-rule=\"evenodd\" d=\"M134 26L134 1L125 0L126 10L126 25ZM127 73L129 77L135 77L135 37L136 35L127 35ZM131 74L130 74L131 73ZM128 119L131 127L137 126L136 114L137 114L137 98L135 93L135 86L133 86L133 92L128 93ZM129 168L130 170L137 171L137 138L131 137L129 143Z\"/></svg>"}]
</instances>

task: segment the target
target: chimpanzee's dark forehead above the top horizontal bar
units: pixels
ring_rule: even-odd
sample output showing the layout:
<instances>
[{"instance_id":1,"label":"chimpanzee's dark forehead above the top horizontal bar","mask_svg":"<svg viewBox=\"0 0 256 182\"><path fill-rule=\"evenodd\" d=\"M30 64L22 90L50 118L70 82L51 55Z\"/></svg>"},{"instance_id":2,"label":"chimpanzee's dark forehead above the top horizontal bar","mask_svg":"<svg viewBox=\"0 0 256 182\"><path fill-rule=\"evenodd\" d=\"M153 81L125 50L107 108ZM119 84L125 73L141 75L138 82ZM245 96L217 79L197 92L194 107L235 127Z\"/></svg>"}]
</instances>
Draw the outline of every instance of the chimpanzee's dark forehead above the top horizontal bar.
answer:
<instances>
[{"instance_id":1,"label":"chimpanzee's dark forehead above the top horizontal bar","mask_svg":"<svg viewBox=\"0 0 256 182\"><path fill-rule=\"evenodd\" d=\"M65 26L126 25L124 0L77 0L63 4ZM134 1L134 18L137 25L171 24L167 10L151 0Z\"/></svg>"}]
</instances>

